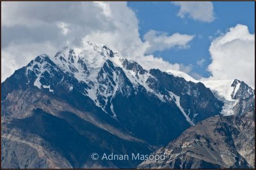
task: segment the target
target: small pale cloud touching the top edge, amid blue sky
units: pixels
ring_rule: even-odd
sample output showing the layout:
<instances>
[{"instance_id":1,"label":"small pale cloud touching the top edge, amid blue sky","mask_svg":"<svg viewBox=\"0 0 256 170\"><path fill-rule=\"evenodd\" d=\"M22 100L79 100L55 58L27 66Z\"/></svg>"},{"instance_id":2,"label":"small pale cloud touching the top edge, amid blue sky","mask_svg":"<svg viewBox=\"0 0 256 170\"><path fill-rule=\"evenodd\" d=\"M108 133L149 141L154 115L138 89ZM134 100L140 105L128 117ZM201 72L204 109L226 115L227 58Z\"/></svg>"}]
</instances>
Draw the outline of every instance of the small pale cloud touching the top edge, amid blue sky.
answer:
<instances>
[{"instance_id":1,"label":"small pale cloud touching the top edge, amid blue sky","mask_svg":"<svg viewBox=\"0 0 256 170\"><path fill-rule=\"evenodd\" d=\"M211 2L173 2L173 4L180 6L179 13L180 18L193 18L194 20L200 20L202 22L214 21L213 4Z\"/></svg>"}]
</instances>

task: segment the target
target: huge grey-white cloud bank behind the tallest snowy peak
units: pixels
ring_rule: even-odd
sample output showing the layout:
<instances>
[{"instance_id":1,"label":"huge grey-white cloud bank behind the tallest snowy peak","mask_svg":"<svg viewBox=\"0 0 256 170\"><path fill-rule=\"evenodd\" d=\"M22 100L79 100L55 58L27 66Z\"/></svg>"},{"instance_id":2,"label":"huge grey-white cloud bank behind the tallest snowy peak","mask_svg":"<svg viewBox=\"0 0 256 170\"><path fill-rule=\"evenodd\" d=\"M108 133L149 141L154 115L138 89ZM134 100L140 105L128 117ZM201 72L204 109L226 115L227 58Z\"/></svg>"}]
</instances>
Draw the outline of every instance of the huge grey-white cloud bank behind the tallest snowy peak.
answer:
<instances>
[{"instance_id":1,"label":"huge grey-white cloud bank behind the tallest snowy peak","mask_svg":"<svg viewBox=\"0 0 256 170\"><path fill-rule=\"evenodd\" d=\"M63 46L79 47L85 40L106 44L146 68L189 70L145 53L188 47L191 36L153 34L150 38L149 32L142 41L138 18L126 2L4 2L1 17L1 81L40 53L54 55ZM161 39L164 47L153 38Z\"/></svg>"}]
</instances>

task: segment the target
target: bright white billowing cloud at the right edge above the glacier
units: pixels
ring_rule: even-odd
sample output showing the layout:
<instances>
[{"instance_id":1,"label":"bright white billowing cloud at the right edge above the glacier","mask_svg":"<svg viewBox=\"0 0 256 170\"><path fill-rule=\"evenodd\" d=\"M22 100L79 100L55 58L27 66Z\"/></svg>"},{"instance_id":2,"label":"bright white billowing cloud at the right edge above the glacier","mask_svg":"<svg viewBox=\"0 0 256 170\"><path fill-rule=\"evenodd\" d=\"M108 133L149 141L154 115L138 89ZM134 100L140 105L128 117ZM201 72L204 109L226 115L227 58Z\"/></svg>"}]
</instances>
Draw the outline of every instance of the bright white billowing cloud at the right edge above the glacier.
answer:
<instances>
[{"instance_id":1,"label":"bright white billowing cloud at the right edge above the glacier","mask_svg":"<svg viewBox=\"0 0 256 170\"><path fill-rule=\"evenodd\" d=\"M237 24L214 39L209 52L209 79L237 78L255 87L255 34L250 34L246 25Z\"/></svg>"}]
</instances>

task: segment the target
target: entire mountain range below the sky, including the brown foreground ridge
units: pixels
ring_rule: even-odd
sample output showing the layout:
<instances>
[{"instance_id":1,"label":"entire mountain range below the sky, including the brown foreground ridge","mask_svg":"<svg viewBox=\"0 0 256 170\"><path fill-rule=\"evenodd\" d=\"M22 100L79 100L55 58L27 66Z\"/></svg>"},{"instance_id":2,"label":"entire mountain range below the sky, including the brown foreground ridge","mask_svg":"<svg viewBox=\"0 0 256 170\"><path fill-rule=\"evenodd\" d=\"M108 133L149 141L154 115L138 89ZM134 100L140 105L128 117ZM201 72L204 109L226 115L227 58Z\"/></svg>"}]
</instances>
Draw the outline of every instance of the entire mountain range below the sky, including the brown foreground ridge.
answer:
<instances>
[{"instance_id":1,"label":"entire mountain range below the sky, including the brown foreground ridge","mask_svg":"<svg viewBox=\"0 0 256 170\"><path fill-rule=\"evenodd\" d=\"M253 168L254 101L244 81L143 69L86 41L1 83L1 166ZM91 157L163 151L163 162Z\"/></svg>"}]
</instances>

